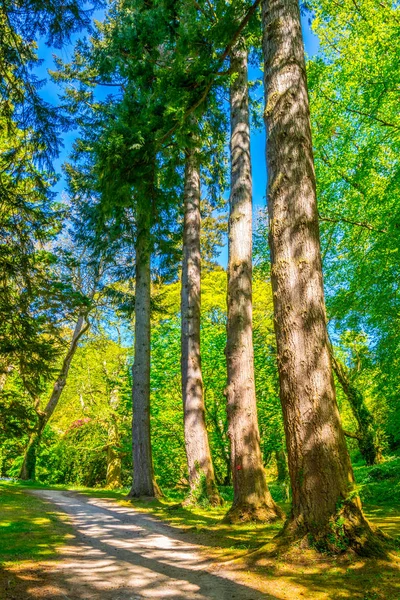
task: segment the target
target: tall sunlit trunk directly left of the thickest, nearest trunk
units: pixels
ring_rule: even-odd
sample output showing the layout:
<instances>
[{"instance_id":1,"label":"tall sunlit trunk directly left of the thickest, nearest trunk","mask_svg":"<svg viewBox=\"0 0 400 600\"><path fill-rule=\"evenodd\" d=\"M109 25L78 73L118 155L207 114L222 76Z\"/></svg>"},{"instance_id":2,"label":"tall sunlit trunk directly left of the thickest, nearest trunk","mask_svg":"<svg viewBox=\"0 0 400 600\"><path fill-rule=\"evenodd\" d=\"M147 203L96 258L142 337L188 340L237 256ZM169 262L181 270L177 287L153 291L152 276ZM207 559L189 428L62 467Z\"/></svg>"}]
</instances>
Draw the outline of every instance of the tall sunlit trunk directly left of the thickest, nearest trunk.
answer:
<instances>
[{"instance_id":1,"label":"tall sunlit trunk directly left of the thickest, nearest trunk","mask_svg":"<svg viewBox=\"0 0 400 600\"><path fill-rule=\"evenodd\" d=\"M281 511L269 492L260 449L252 330L252 179L247 51L231 52L231 195L229 214L226 388L233 504L226 520L274 520Z\"/></svg>"}]
</instances>

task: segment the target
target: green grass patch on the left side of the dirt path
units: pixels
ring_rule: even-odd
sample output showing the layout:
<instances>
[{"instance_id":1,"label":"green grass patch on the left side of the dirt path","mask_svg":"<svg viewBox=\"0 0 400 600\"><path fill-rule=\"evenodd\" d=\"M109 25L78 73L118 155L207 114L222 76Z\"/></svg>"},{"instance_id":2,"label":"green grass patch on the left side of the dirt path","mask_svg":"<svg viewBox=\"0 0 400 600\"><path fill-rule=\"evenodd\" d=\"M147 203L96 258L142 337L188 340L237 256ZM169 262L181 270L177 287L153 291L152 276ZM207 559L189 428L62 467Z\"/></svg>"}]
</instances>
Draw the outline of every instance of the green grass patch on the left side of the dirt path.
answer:
<instances>
[{"instance_id":1,"label":"green grass patch on the left side of the dirt path","mask_svg":"<svg viewBox=\"0 0 400 600\"><path fill-rule=\"evenodd\" d=\"M0 565L54 558L72 533L65 517L24 486L0 482Z\"/></svg>"}]
</instances>

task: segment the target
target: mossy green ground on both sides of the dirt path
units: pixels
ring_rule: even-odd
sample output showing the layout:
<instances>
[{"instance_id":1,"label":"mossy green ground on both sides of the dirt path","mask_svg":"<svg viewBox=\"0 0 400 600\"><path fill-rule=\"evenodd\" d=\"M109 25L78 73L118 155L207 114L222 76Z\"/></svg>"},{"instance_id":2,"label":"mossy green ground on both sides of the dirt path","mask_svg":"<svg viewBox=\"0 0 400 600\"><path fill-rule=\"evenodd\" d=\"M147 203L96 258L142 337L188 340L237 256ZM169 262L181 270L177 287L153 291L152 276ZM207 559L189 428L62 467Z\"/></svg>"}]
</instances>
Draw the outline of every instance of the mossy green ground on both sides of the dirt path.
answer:
<instances>
[{"instance_id":1,"label":"mossy green ground on both sides of the dirt path","mask_svg":"<svg viewBox=\"0 0 400 600\"><path fill-rule=\"evenodd\" d=\"M365 473L362 471L363 478L367 480L369 471L362 469L365 470ZM375 475L372 477L374 482ZM380 493L379 481L383 482L381 487L384 488ZM389 502L385 475L379 481L378 486L374 483L374 494L370 494L373 503L364 502L365 512L374 525L400 539L400 503ZM367 485L368 481L362 483L364 493L368 493ZM15 565L17 568L26 564L34 566L43 560L56 558L57 545L68 543L71 530L56 512L49 511L49 505L23 493L25 487L42 486L0 486L0 561L7 566L7 573L12 572ZM351 554L327 556L299 546L292 548L289 553L275 553L272 556L273 538L281 524L222 523L229 507L228 490L222 490L227 500L224 506L205 508L182 506L180 500L183 494L180 492L171 492L161 500L129 501L126 489L110 491L54 487L74 489L93 497L133 505L137 510L168 522L172 527L185 531L188 541L201 545L202 552L215 561L216 569L235 571L242 583L279 600L400 600L398 552L391 552L385 560L361 559ZM289 508L288 504L280 502L280 505L285 510ZM18 600L24 598L23 595L4 596L7 600L14 597ZM26 597L42 596L38 593L37 596Z\"/></svg>"}]
</instances>

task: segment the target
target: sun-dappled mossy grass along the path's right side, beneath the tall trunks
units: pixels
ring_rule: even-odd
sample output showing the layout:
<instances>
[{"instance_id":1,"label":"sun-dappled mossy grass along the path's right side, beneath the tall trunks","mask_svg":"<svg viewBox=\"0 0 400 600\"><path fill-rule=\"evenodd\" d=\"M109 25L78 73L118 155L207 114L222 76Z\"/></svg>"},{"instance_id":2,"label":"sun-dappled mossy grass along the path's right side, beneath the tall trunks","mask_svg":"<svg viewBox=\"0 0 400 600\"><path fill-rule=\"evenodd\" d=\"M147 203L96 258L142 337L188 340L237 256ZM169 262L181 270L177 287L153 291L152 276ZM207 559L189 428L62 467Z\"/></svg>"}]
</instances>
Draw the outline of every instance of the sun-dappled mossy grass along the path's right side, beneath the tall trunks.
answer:
<instances>
[{"instance_id":1,"label":"sun-dappled mossy grass along the path's right side, beneath the tall trunks","mask_svg":"<svg viewBox=\"0 0 400 600\"><path fill-rule=\"evenodd\" d=\"M220 549L219 559L238 558L229 568L242 573L252 573L253 584L267 589L276 597L321 598L329 600L399 600L400 559L393 553L389 560L361 559L360 557L327 557L315 552L299 550L290 556L270 559L267 548L264 555L251 553L272 539L280 525L221 524L221 509L189 509L165 505L159 501L149 503L124 503L142 512L149 522L156 516L168 520L169 535L185 539L215 550ZM396 537L400 533L400 510L387 507L369 507L368 517L385 533ZM165 523L165 521L163 521ZM165 526L165 525L164 525ZM175 530L171 531L171 530ZM247 551L238 552L246 548ZM250 552L249 552L250 550ZM227 552L228 551L228 552Z\"/></svg>"}]
</instances>

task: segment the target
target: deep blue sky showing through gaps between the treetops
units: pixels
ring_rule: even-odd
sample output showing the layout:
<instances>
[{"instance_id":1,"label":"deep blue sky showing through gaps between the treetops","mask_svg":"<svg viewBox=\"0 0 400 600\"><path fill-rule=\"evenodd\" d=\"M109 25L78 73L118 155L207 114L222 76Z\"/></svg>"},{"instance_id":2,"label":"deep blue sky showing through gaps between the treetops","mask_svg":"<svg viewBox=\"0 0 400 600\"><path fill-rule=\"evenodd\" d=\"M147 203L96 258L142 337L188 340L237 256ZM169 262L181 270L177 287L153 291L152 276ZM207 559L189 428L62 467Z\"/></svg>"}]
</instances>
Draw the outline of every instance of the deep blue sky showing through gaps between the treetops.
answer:
<instances>
[{"instance_id":1,"label":"deep blue sky showing through gaps between the treetops","mask_svg":"<svg viewBox=\"0 0 400 600\"><path fill-rule=\"evenodd\" d=\"M98 11L94 14L94 19L102 20L104 15L103 11ZM302 17L303 37L304 45L307 56L314 56L318 51L318 38L311 31L309 17ZM46 46L43 40L39 40L38 54L39 58L42 59L41 66L37 69L37 74L40 78L46 79L46 83L41 90L43 98L52 103L58 103L58 95L60 94L60 88L57 84L53 83L48 76L48 69L54 69L53 54L60 56L65 62L69 61L72 56L74 41L84 34L74 36L71 44L62 48L61 50L54 50ZM250 71L250 78L259 78L261 72L257 73L256 69ZM258 93L262 93L259 90ZM60 153L59 158L55 161L56 172L62 175L62 164L68 159L68 156L72 149L72 144L76 138L76 132L70 131L64 134L63 144L64 147ZM265 131L264 128L261 130L252 131L251 134L251 152L252 152L252 172L253 172L253 202L254 202L254 213L256 214L259 208L265 207L265 190L266 190L266 164L265 164ZM65 181L61 177L57 183L55 189L58 193L61 193L65 188ZM225 266L227 262L227 249L224 248L221 252L219 262Z\"/></svg>"}]
</instances>

